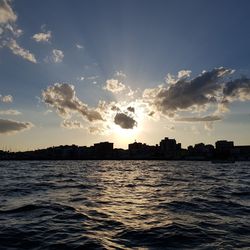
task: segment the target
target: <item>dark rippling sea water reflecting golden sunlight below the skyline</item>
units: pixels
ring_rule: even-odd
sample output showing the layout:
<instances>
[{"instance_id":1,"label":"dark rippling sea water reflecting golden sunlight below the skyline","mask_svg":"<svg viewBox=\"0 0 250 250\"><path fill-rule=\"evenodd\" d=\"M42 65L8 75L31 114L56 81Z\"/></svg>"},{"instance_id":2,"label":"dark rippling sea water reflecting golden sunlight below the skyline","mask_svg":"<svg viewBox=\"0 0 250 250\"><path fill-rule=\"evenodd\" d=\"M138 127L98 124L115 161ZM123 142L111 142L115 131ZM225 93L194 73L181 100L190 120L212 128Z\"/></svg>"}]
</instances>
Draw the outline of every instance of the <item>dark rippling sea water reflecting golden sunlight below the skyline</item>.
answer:
<instances>
[{"instance_id":1,"label":"dark rippling sea water reflecting golden sunlight below the skyline","mask_svg":"<svg viewBox=\"0 0 250 250\"><path fill-rule=\"evenodd\" d=\"M0 162L0 249L250 249L250 163Z\"/></svg>"}]
</instances>

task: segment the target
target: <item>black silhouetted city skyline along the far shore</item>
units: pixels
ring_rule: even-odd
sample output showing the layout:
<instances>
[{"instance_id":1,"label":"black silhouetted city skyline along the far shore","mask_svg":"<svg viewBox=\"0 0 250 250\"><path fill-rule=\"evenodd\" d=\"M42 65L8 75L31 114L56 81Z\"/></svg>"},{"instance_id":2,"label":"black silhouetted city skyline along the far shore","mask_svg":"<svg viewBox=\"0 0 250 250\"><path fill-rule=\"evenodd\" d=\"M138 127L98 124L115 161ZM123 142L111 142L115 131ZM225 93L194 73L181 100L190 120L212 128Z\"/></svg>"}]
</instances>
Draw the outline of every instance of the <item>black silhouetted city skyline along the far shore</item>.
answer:
<instances>
[{"instance_id":1,"label":"black silhouetted city skyline along the far shore","mask_svg":"<svg viewBox=\"0 0 250 250\"><path fill-rule=\"evenodd\" d=\"M215 147L197 143L187 149L175 139L165 137L156 145L134 142L128 149L114 148L112 142L93 146L60 145L25 152L0 150L0 160L250 160L250 145L235 146L233 141L219 140Z\"/></svg>"}]
</instances>

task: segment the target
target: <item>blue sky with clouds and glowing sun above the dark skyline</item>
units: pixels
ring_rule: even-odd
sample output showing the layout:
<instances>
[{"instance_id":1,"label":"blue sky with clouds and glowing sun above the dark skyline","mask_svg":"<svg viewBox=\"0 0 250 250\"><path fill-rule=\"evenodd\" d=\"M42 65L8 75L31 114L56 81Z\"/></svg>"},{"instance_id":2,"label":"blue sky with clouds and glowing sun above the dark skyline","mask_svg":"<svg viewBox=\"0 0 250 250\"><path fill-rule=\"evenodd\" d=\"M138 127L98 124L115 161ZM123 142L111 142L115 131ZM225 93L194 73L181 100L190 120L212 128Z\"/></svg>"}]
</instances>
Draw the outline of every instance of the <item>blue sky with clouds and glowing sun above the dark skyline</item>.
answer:
<instances>
[{"instance_id":1,"label":"blue sky with clouds and glowing sun above the dark skyline","mask_svg":"<svg viewBox=\"0 0 250 250\"><path fill-rule=\"evenodd\" d=\"M250 144L247 0L0 0L0 149Z\"/></svg>"}]
</instances>

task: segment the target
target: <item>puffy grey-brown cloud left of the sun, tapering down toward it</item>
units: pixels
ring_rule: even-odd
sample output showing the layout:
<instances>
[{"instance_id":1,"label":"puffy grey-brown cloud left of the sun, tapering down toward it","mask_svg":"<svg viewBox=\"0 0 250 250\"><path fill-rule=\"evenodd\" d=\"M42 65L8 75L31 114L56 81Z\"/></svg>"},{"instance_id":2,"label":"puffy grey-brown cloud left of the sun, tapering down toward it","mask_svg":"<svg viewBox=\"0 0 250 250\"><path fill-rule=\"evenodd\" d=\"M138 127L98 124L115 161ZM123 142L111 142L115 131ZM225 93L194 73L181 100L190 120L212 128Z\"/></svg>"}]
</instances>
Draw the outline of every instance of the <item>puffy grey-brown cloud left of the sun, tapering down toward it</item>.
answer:
<instances>
[{"instance_id":1,"label":"puffy grey-brown cloud left of the sun, tapering down toward it","mask_svg":"<svg viewBox=\"0 0 250 250\"><path fill-rule=\"evenodd\" d=\"M71 117L72 113L78 113L88 121L103 120L101 114L81 102L76 96L75 88L67 83L55 83L42 92L42 100L56 112L64 117Z\"/></svg>"}]
</instances>

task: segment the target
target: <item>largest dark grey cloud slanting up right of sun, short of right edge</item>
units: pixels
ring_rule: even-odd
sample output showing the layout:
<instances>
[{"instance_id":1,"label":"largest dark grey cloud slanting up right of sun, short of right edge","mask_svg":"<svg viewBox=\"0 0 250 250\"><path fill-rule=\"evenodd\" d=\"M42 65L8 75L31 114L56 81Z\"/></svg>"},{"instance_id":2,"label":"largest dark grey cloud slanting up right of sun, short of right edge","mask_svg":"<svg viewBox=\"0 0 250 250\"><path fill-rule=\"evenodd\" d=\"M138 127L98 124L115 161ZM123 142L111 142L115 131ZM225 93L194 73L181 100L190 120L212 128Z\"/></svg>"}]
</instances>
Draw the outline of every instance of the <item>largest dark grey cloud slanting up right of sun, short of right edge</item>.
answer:
<instances>
[{"instance_id":1,"label":"largest dark grey cloud slanting up right of sun, short of right edge","mask_svg":"<svg viewBox=\"0 0 250 250\"><path fill-rule=\"evenodd\" d=\"M191 80L186 78L187 73L180 73L182 78L172 84L146 89L143 97L157 112L170 117L182 110L200 111L219 102L223 78L232 73L233 70L220 67Z\"/></svg>"}]
</instances>

